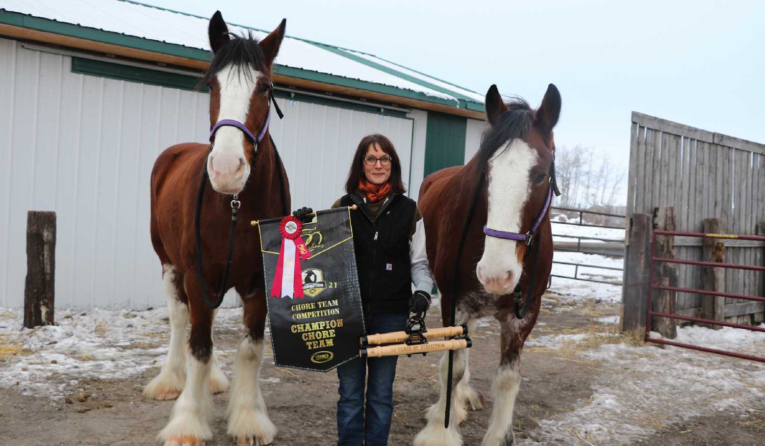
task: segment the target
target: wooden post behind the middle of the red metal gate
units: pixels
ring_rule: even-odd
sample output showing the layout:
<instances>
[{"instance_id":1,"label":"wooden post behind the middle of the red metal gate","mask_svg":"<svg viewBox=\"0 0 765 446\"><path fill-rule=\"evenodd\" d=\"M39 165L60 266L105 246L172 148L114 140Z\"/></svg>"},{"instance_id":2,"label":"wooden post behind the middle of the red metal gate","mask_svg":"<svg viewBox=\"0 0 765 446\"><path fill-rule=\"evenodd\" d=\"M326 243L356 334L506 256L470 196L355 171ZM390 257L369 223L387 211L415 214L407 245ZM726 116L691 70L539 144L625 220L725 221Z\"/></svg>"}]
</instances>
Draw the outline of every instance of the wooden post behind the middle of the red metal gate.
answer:
<instances>
[{"instance_id":1,"label":"wooden post behind the middle of the red metal gate","mask_svg":"<svg viewBox=\"0 0 765 446\"><path fill-rule=\"evenodd\" d=\"M721 234L722 223L718 218L704 219L704 233ZM703 259L705 262L725 261L724 239L704 239ZM702 267L702 289L706 291L725 291L725 269ZM725 298L702 295L702 318L713 321L725 321ZM720 325L702 324L704 327L719 329Z\"/></svg>"}]
</instances>

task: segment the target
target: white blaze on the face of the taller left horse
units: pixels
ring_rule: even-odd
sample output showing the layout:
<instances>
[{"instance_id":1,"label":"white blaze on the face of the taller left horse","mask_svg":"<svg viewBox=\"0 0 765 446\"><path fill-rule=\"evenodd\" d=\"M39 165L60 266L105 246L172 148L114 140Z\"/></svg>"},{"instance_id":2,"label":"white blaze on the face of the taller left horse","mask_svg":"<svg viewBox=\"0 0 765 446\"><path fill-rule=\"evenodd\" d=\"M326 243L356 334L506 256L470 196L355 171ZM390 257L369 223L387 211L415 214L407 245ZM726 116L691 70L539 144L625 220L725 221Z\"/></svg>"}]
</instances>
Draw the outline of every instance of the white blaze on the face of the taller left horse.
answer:
<instances>
[{"instance_id":1,"label":"white blaze on the face of the taller left horse","mask_svg":"<svg viewBox=\"0 0 765 446\"><path fill-rule=\"evenodd\" d=\"M260 73L254 69L251 69L251 73L254 76L252 79L247 77L245 71L229 63L215 75L220 86L218 121L233 119L246 122L250 99L260 77ZM256 138L258 136L255 133L253 135ZM207 157L207 171L213 189L222 194L237 194L244 189L250 169L244 150L246 138L241 130L228 125L215 133L213 151Z\"/></svg>"}]
</instances>

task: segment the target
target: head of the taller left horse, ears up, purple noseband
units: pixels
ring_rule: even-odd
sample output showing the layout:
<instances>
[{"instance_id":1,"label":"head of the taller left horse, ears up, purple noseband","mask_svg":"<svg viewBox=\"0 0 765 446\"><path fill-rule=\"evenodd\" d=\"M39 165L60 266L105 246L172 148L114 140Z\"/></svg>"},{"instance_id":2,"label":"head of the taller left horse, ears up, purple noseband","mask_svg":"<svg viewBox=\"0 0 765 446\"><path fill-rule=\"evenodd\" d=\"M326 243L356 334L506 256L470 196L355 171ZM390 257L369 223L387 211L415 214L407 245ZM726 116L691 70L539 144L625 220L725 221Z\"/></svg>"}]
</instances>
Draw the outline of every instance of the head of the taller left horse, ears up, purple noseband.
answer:
<instances>
[{"instance_id":1,"label":"head of the taller left horse, ears up, purple noseband","mask_svg":"<svg viewBox=\"0 0 765 446\"><path fill-rule=\"evenodd\" d=\"M213 60L203 76L210 89L210 154L207 172L222 194L241 192L255 162L258 144L268 133L272 68L285 35L282 20L257 41L252 34L229 33L220 11L210 18Z\"/></svg>"}]
</instances>

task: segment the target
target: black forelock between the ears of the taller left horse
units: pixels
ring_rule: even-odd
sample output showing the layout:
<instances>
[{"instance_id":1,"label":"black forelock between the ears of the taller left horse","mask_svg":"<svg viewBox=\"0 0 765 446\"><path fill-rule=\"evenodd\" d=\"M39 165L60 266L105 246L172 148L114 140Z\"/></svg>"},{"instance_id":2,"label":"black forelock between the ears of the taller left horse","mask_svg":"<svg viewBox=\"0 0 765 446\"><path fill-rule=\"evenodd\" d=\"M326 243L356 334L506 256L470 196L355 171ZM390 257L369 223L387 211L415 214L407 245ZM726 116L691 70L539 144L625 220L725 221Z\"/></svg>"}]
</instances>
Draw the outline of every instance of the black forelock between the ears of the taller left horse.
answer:
<instances>
[{"instance_id":1,"label":"black forelock between the ears of the taller left horse","mask_svg":"<svg viewBox=\"0 0 765 446\"><path fill-rule=\"evenodd\" d=\"M252 31L247 31L246 36L238 36L229 32L229 41L223 45L213 56L210 66L204 71L200 85L205 86L212 82L216 73L223 70L229 63L233 63L239 76L245 75L245 80L253 79L252 68L260 73L269 73L269 63L265 60L265 54L258 44L258 40L252 36Z\"/></svg>"}]
</instances>

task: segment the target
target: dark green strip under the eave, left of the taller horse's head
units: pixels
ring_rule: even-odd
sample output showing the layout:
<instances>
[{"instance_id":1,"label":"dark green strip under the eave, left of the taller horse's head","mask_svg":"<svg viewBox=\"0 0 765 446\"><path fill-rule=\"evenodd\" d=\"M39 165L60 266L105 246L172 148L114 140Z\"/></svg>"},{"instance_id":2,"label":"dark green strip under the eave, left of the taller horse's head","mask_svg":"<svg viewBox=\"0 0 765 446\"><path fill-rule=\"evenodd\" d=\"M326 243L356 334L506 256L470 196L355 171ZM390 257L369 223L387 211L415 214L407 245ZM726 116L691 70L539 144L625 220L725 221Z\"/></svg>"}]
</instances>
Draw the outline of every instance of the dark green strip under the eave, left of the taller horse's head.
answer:
<instances>
[{"instance_id":1,"label":"dark green strip under the eave, left of the taller horse's head","mask_svg":"<svg viewBox=\"0 0 765 446\"><path fill-rule=\"evenodd\" d=\"M151 68L132 67L122 63L104 62L103 60L72 57L72 73L90 76L109 77L110 79L129 80L151 85L169 86L181 90L193 90L207 93L207 87L197 90L199 78Z\"/></svg>"}]
</instances>

